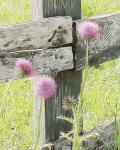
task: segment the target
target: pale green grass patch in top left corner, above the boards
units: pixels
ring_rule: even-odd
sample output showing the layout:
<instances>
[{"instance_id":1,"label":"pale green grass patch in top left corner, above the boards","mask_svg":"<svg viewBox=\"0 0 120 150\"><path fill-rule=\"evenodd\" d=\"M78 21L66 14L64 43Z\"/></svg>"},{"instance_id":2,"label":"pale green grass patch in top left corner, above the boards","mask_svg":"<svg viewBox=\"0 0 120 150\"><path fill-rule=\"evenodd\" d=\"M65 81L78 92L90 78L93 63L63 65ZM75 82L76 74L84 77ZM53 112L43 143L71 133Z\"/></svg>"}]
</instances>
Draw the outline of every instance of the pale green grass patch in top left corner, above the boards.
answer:
<instances>
[{"instance_id":1,"label":"pale green grass patch in top left corner, above the boards","mask_svg":"<svg viewBox=\"0 0 120 150\"><path fill-rule=\"evenodd\" d=\"M29 0L0 0L0 24L30 20Z\"/></svg>"}]
</instances>

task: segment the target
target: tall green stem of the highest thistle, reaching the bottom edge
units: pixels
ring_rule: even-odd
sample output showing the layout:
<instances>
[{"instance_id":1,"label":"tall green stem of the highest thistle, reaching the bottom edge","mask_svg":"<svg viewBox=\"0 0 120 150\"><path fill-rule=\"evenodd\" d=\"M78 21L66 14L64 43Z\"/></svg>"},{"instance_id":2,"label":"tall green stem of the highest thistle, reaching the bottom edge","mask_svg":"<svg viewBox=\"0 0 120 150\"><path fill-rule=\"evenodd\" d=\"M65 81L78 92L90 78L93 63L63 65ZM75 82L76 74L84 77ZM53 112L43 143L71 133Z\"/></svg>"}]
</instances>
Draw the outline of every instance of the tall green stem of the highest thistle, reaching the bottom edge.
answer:
<instances>
[{"instance_id":1,"label":"tall green stem of the highest thistle, reaching the bottom edge","mask_svg":"<svg viewBox=\"0 0 120 150\"><path fill-rule=\"evenodd\" d=\"M77 109L72 109L73 116L74 116L74 123L73 123L73 131L74 131L74 137L73 137L73 150L79 150L80 149L80 142L79 142L79 131L83 131L83 113L84 113L84 88L86 79L88 76L88 45L89 41L86 40L86 59L85 59L85 72L83 73L83 80L81 85L81 92L80 92L80 98L78 101ZM79 117L80 116L80 117Z\"/></svg>"}]
</instances>

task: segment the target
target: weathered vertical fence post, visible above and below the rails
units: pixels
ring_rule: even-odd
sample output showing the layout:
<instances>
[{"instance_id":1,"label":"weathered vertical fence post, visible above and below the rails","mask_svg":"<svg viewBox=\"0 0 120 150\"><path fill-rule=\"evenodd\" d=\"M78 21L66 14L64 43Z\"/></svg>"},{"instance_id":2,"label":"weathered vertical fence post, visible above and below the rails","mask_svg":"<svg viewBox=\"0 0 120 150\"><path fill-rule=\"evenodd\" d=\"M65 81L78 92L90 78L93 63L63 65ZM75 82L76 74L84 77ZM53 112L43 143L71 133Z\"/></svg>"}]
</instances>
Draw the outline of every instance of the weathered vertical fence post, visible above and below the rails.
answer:
<instances>
[{"instance_id":1,"label":"weathered vertical fence post, visible above and below the rails","mask_svg":"<svg viewBox=\"0 0 120 150\"><path fill-rule=\"evenodd\" d=\"M32 20L40 20L42 17L53 16L71 16L73 19L80 19L81 17L81 0L31 0ZM61 30L62 26L59 26ZM71 24L72 31L72 24ZM58 35L55 35L58 36ZM70 35L72 36L72 35ZM69 36L69 38L71 38ZM54 37L53 37L54 38ZM52 40L52 39L51 39ZM59 40L59 42L61 42ZM74 44L75 45L75 44ZM72 42L68 45L73 47ZM67 47L66 47L67 48ZM53 62L54 63L54 62ZM71 68L71 67L69 67ZM64 121L56 119L61 114L66 114L62 109L62 101L66 96L78 97L81 84L81 71L74 71L74 59L72 70L59 72L56 76L58 85L58 92L55 98L51 101L45 102L45 110L43 110L42 118L42 144L47 140L57 140L60 131L68 130L70 127ZM58 72L58 70L51 70ZM37 134L37 112L38 112L39 98L35 96L34 101L34 117L35 117L35 135Z\"/></svg>"}]
</instances>

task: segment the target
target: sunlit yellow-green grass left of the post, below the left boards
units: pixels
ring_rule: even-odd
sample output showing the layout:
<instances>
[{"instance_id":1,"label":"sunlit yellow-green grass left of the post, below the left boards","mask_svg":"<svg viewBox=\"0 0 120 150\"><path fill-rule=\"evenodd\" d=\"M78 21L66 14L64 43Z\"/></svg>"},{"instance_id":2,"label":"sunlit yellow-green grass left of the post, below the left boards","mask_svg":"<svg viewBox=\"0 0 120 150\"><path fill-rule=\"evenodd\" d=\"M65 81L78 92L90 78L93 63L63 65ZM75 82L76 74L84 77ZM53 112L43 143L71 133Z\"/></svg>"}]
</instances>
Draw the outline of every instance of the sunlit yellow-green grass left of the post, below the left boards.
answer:
<instances>
[{"instance_id":1,"label":"sunlit yellow-green grass left of the post, below the left boards","mask_svg":"<svg viewBox=\"0 0 120 150\"><path fill-rule=\"evenodd\" d=\"M0 105L5 104L5 114L0 114L0 150L25 150L33 144L31 82L28 79L14 81L3 101L6 86L0 84Z\"/></svg>"}]
</instances>

